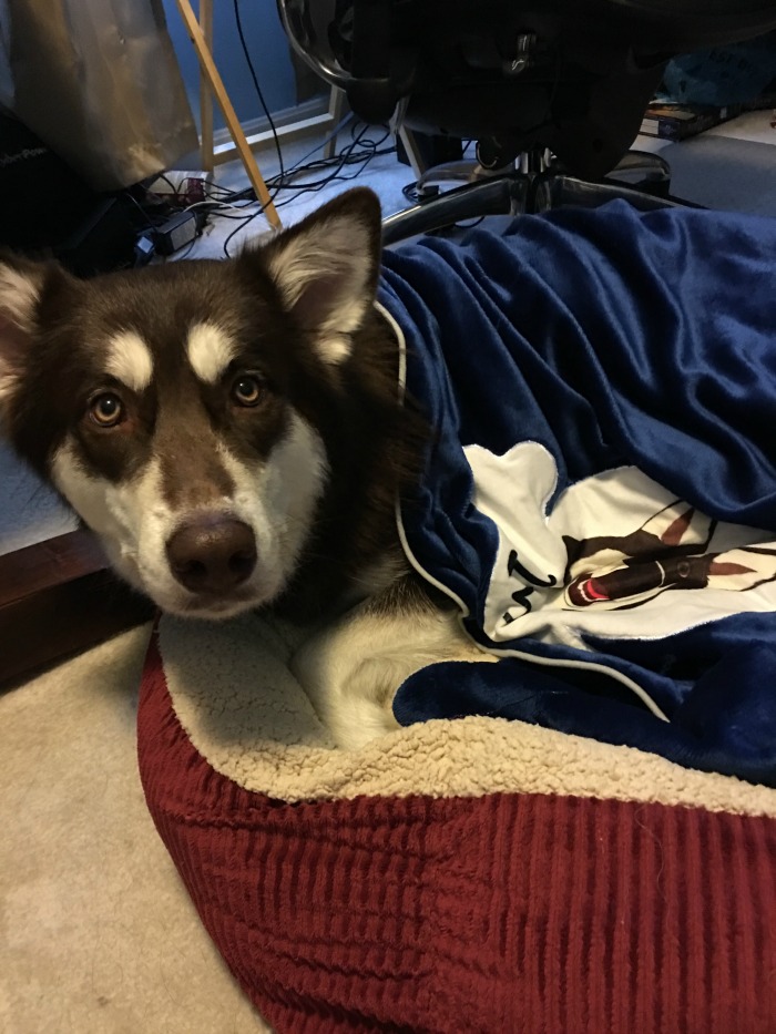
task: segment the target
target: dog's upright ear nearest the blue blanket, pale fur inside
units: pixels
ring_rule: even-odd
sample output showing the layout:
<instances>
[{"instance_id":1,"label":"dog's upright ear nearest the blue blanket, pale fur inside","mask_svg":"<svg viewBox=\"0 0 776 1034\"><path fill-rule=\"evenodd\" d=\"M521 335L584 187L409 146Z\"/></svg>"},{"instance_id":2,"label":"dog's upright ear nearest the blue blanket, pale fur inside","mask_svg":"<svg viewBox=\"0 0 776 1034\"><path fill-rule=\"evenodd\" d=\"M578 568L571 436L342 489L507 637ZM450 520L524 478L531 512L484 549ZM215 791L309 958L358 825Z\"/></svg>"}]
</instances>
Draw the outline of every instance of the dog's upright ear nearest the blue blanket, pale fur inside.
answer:
<instances>
[{"instance_id":1,"label":"dog's upright ear nearest the blue blanket, pale fur inside","mask_svg":"<svg viewBox=\"0 0 776 1034\"><path fill-rule=\"evenodd\" d=\"M313 332L320 357L345 360L377 288L380 203L375 194L364 187L346 191L262 250L284 306Z\"/></svg>"}]
</instances>

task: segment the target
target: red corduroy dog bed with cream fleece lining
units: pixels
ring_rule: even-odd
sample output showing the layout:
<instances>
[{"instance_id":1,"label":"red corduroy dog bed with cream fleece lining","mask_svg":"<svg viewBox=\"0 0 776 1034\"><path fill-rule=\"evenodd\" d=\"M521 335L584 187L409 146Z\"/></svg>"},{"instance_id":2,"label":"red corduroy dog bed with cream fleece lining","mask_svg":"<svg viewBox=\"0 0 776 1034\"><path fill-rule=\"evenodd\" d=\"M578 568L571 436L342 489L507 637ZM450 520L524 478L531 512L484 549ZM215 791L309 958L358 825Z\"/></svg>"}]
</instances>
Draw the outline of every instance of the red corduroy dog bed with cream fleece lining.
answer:
<instances>
[{"instance_id":1,"label":"red corduroy dog bed with cream fleece lining","mask_svg":"<svg viewBox=\"0 0 776 1034\"><path fill-rule=\"evenodd\" d=\"M153 819L276 1031L773 1032L776 790L478 716L348 754L290 649L165 617L139 714Z\"/></svg>"}]
</instances>

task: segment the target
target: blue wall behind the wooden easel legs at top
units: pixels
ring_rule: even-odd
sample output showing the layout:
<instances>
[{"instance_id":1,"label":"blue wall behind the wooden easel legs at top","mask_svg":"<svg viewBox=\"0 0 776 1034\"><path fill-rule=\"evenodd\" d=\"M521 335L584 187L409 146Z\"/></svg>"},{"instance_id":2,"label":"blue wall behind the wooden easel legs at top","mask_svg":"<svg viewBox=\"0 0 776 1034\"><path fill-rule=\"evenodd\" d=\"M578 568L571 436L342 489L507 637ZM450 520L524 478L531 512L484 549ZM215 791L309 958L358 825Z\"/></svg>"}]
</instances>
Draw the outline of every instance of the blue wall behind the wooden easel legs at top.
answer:
<instances>
[{"instance_id":1,"label":"blue wall behind the wooden easel legs at top","mask_svg":"<svg viewBox=\"0 0 776 1034\"><path fill-rule=\"evenodd\" d=\"M198 124L200 65L196 52L175 0L162 2L188 100ZM294 70L275 0L237 0L237 3L245 42L269 111L293 108L296 104ZM192 7L198 13L198 4L193 2ZM262 105L239 43L233 0L214 0L213 35L213 57L237 117L241 122L263 117ZM217 104L214 104L213 121L216 129L223 127L224 120Z\"/></svg>"}]
</instances>

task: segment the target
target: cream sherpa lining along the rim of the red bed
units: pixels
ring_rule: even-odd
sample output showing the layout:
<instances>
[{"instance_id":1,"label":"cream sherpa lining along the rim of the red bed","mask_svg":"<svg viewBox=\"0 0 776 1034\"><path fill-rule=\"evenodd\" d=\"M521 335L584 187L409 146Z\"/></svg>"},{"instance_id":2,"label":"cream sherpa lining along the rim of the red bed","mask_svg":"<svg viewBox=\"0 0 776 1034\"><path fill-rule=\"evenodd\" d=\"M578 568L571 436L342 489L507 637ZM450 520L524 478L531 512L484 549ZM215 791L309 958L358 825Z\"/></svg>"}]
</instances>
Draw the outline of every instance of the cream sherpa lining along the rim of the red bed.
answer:
<instances>
[{"instance_id":1,"label":"cream sherpa lining along the rim of the red bed","mask_svg":"<svg viewBox=\"0 0 776 1034\"><path fill-rule=\"evenodd\" d=\"M346 753L288 670L289 627L255 616L211 626L165 617L159 635L193 746L247 790L287 801L560 794L776 817L776 790L521 721L433 720Z\"/></svg>"}]
</instances>

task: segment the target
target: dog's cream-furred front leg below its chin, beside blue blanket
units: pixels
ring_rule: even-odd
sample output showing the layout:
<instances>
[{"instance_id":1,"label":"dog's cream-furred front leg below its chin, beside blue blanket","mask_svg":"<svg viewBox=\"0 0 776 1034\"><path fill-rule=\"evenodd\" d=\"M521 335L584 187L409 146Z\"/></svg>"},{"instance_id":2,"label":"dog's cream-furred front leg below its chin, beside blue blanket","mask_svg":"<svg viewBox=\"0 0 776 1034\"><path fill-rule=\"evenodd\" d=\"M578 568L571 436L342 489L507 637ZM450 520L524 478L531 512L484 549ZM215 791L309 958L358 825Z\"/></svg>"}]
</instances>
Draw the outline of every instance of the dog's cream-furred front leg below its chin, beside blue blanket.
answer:
<instances>
[{"instance_id":1,"label":"dog's cream-furred front leg below its chin, beside blue blanket","mask_svg":"<svg viewBox=\"0 0 776 1034\"><path fill-rule=\"evenodd\" d=\"M439 661L496 661L463 633L458 612L399 579L299 649L292 670L337 746L356 750L399 728L392 703L415 672Z\"/></svg>"}]
</instances>

